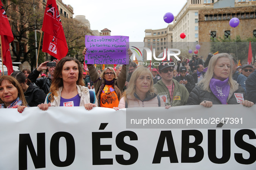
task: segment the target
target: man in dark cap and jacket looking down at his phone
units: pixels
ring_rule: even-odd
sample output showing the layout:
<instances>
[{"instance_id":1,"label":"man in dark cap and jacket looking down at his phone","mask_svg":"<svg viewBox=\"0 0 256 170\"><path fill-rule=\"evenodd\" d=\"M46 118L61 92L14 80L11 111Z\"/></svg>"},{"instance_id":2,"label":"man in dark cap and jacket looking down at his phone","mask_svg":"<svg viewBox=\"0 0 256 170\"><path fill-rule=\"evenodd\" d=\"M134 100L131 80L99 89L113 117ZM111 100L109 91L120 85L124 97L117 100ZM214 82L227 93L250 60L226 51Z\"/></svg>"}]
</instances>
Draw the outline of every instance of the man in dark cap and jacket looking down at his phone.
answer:
<instances>
[{"instance_id":1,"label":"man in dark cap and jacket looking down at his phone","mask_svg":"<svg viewBox=\"0 0 256 170\"><path fill-rule=\"evenodd\" d=\"M187 88L188 93L190 93L195 87L194 77L188 74L185 66L181 66L180 75L176 76L175 80L177 80L179 84L184 85Z\"/></svg>"}]
</instances>

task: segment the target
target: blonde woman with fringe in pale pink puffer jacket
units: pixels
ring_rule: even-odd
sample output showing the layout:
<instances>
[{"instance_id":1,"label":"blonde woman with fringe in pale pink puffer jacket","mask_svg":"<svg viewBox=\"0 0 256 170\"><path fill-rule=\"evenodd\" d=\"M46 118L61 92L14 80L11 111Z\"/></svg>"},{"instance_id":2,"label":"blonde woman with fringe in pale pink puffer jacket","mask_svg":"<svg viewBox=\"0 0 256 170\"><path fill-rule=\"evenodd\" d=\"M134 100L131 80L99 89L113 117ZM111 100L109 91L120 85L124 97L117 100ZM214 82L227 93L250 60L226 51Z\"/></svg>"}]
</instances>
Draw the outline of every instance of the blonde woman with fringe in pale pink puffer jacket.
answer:
<instances>
[{"instance_id":1,"label":"blonde woman with fringe in pale pink puffer jacket","mask_svg":"<svg viewBox=\"0 0 256 170\"><path fill-rule=\"evenodd\" d=\"M153 87L153 76L150 70L139 66L132 74L126 97L121 98L118 108L127 107L159 107L165 106L164 101L156 94Z\"/></svg>"}]
</instances>

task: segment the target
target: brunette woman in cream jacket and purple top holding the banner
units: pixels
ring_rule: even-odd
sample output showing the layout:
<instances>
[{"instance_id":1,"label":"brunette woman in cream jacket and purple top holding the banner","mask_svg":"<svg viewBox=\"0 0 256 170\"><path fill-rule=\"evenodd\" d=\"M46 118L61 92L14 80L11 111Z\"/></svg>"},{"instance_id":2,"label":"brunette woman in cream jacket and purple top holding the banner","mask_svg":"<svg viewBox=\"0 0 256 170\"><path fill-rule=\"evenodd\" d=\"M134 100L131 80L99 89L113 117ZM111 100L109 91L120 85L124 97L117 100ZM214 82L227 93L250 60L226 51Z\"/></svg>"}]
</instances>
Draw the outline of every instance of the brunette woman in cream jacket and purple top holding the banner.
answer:
<instances>
[{"instance_id":1,"label":"brunette woman in cream jacket and purple top holding the banner","mask_svg":"<svg viewBox=\"0 0 256 170\"><path fill-rule=\"evenodd\" d=\"M45 104L39 104L38 107L47 110L50 106L84 106L86 110L91 110L97 106L97 99L94 97L95 104L90 103L90 97L89 90L84 87L81 64L77 59L64 57L56 65Z\"/></svg>"}]
</instances>

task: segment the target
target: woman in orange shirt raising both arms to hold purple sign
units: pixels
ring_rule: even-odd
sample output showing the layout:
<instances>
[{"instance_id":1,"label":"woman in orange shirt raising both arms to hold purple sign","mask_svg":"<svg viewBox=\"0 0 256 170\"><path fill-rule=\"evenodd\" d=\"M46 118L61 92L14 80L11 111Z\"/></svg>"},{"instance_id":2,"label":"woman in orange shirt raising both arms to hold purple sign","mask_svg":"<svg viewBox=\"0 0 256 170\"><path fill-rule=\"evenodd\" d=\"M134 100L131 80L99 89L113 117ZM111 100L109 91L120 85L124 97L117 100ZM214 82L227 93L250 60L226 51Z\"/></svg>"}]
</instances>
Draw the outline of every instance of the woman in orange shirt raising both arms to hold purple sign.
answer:
<instances>
[{"instance_id":1,"label":"woman in orange shirt raising both arms to hold purple sign","mask_svg":"<svg viewBox=\"0 0 256 170\"><path fill-rule=\"evenodd\" d=\"M86 54L86 47L84 47L83 54ZM128 50L129 56L132 55L131 50ZM126 73L128 68L123 64L121 72L116 75L112 67L105 68L100 74L97 72L94 64L87 64L91 80L94 83L96 98L99 107L118 107L121 99L122 90L126 82Z\"/></svg>"}]
</instances>

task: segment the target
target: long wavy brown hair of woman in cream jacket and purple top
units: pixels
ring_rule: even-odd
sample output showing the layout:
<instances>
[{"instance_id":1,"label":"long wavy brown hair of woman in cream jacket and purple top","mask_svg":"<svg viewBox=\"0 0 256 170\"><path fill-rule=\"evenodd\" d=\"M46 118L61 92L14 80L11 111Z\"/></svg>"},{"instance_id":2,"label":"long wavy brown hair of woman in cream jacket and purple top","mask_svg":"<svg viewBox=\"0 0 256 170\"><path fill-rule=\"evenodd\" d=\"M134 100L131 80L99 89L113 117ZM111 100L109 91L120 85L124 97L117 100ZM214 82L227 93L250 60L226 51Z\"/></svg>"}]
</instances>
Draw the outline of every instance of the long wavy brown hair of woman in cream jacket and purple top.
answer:
<instances>
[{"instance_id":1,"label":"long wavy brown hair of woman in cream jacket and purple top","mask_svg":"<svg viewBox=\"0 0 256 170\"><path fill-rule=\"evenodd\" d=\"M51 93L49 95L49 99L51 99L51 101L53 101L53 96L57 94L58 88L63 86L63 80L62 80L62 78L60 78L60 76L62 76L62 69L63 69L64 64L67 61L75 61L75 63L78 64L79 73L78 73L78 80L77 80L76 84L84 86L84 79L83 79L84 71L83 71L83 68L82 68L81 64L79 63L79 61L72 57L64 57L64 58L62 58L62 60L60 60L58 62L58 64L55 67L54 76L52 79L52 85L51 85L51 88L49 91L49 93Z\"/></svg>"}]
</instances>

